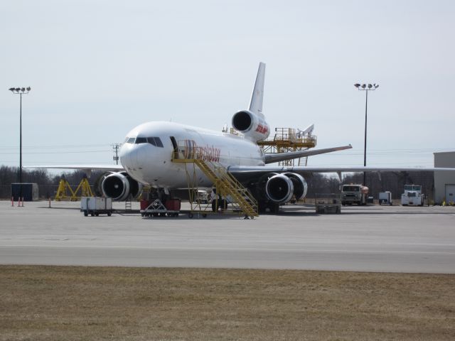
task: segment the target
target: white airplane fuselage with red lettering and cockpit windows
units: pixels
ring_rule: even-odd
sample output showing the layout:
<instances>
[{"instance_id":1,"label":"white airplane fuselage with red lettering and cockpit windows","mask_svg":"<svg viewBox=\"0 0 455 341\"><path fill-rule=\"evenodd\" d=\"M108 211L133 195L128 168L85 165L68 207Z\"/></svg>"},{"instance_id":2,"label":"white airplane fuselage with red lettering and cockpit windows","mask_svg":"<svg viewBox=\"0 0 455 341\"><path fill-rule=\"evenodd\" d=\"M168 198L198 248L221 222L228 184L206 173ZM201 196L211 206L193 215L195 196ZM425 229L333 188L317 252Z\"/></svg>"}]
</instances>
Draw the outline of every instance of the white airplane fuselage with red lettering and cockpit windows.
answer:
<instances>
[{"instance_id":1,"label":"white airplane fuselage with red lettering and cockpit windows","mask_svg":"<svg viewBox=\"0 0 455 341\"><path fill-rule=\"evenodd\" d=\"M140 183L156 188L186 188L185 164L172 162L176 148L179 158L201 158L225 167L264 166L264 153L249 139L166 121L147 122L129 131L119 153L120 162ZM196 178L200 187L212 185L197 167Z\"/></svg>"}]
</instances>

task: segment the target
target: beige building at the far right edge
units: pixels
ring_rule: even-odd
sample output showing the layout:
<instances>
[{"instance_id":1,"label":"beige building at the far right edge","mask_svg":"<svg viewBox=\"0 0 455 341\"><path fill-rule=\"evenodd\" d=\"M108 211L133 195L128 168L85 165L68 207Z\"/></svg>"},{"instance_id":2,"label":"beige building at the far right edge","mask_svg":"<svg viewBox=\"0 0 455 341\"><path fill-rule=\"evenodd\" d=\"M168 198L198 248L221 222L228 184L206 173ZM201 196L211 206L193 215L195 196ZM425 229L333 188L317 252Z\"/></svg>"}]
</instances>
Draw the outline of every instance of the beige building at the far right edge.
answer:
<instances>
[{"instance_id":1,"label":"beige building at the far right edge","mask_svg":"<svg viewBox=\"0 0 455 341\"><path fill-rule=\"evenodd\" d=\"M434 153L434 167L455 168L455 151ZM434 202L455 202L455 171L434 172Z\"/></svg>"}]
</instances>

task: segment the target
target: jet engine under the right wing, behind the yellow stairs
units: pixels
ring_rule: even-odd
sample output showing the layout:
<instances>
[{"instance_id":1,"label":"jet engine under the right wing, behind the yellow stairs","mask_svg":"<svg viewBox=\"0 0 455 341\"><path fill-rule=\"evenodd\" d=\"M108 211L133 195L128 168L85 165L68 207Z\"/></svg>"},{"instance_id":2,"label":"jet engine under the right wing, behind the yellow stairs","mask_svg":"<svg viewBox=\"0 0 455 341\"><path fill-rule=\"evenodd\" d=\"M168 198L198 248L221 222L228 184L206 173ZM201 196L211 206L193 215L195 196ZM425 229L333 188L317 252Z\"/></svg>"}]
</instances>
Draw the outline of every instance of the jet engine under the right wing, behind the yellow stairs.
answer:
<instances>
[{"instance_id":1,"label":"jet engine under the right wing, behind the yellow stairs","mask_svg":"<svg viewBox=\"0 0 455 341\"><path fill-rule=\"evenodd\" d=\"M293 196L303 199L307 190L304 177L296 173L275 174L265 184L267 199L277 204L285 204Z\"/></svg>"}]
</instances>

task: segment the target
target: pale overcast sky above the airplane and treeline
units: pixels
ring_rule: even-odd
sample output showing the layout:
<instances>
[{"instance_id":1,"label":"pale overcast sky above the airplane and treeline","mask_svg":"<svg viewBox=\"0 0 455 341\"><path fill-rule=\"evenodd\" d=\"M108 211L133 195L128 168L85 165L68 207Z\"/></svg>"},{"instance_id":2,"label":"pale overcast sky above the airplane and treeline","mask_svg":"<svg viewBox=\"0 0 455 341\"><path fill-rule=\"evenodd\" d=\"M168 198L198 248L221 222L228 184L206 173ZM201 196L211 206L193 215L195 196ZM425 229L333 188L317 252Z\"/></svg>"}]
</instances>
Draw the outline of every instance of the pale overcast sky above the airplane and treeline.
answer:
<instances>
[{"instance_id":1,"label":"pale overcast sky above the airplane and treeline","mask_svg":"<svg viewBox=\"0 0 455 341\"><path fill-rule=\"evenodd\" d=\"M433 166L455 150L455 1L1 1L0 164L112 163L144 121L220 130L267 64L272 128L315 124L309 166ZM3 90L1 90L3 89Z\"/></svg>"}]
</instances>

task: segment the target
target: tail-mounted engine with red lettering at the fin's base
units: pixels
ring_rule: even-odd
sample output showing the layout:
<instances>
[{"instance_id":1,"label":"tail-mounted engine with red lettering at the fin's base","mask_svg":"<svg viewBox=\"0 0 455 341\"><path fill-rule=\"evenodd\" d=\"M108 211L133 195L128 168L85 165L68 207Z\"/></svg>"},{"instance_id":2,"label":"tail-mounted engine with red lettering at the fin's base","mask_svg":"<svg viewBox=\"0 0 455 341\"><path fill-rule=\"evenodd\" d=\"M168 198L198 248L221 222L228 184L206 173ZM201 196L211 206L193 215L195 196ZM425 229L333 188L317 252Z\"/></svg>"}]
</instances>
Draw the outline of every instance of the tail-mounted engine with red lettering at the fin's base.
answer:
<instances>
[{"instance_id":1,"label":"tail-mounted engine with red lettering at the fin's base","mask_svg":"<svg viewBox=\"0 0 455 341\"><path fill-rule=\"evenodd\" d=\"M269 124L250 110L236 112L232 116L232 126L252 141L265 140L270 134Z\"/></svg>"}]
</instances>

